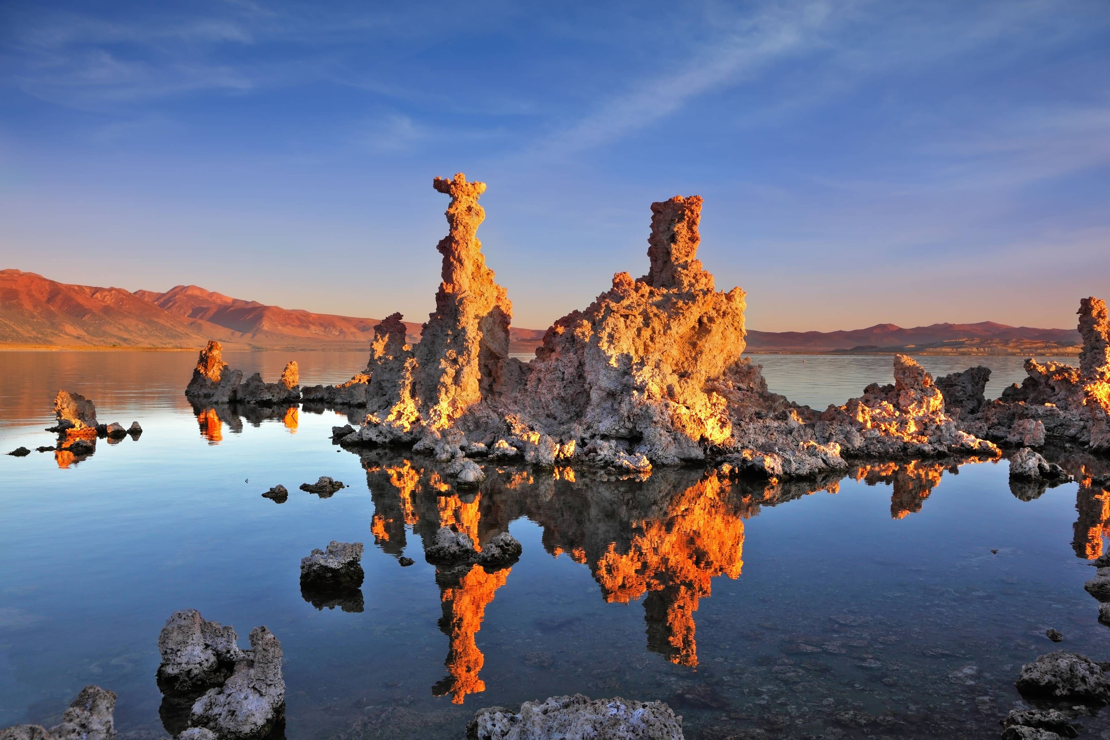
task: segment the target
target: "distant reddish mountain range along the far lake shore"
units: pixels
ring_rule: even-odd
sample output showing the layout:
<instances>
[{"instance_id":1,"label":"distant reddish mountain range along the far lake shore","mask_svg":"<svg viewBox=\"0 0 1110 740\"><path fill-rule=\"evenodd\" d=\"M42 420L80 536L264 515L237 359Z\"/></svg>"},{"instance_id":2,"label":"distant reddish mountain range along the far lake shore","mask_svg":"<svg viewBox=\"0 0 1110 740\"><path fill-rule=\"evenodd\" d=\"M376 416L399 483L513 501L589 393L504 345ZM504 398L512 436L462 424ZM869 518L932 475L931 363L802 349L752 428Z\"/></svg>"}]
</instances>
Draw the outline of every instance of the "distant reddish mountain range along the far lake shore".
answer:
<instances>
[{"instance_id":1,"label":"distant reddish mountain range along the far lake shore","mask_svg":"<svg viewBox=\"0 0 1110 740\"><path fill-rule=\"evenodd\" d=\"M0 270L0 346L8 347L195 348L219 339L243 349L365 349L377 323L269 306L195 285L131 293ZM415 342L421 324L405 326ZM513 327L511 351L533 352L544 332ZM749 331L747 347L750 353L1074 354L1079 333L993 322L877 324L839 332Z\"/></svg>"}]
</instances>

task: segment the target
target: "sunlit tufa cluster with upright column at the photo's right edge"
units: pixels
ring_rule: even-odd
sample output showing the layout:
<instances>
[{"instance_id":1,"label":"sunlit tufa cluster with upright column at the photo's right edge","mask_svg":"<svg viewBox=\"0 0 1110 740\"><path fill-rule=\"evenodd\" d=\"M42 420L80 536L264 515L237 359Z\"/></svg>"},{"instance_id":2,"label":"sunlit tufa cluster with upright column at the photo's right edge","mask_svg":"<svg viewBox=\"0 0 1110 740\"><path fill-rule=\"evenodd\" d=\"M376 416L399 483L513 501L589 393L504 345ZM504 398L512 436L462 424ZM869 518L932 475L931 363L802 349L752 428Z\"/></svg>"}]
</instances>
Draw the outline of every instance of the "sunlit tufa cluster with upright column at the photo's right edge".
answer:
<instances>
[{"instance_id":1,"label":"sunlit tufa cluster with upright column at the photo's right edge","mask_svg":"<svg viewBox=\"0 0 1110 740\"><path fill-rule=\"evenodd\" d=\"M1096 297L1080 301L1078 313L1083 339L1079 367L1027 359L1028 377L1003 391L1001 398L987 402L971 394L970 405L978 403L978 408L960 415L960 428L1022 447L1054 443L1110 450L1110 320L1106 303ZM957 375L983 372L979 367ZM946 399L947 394L946 388Z\"/></svg>"}]
</instances>

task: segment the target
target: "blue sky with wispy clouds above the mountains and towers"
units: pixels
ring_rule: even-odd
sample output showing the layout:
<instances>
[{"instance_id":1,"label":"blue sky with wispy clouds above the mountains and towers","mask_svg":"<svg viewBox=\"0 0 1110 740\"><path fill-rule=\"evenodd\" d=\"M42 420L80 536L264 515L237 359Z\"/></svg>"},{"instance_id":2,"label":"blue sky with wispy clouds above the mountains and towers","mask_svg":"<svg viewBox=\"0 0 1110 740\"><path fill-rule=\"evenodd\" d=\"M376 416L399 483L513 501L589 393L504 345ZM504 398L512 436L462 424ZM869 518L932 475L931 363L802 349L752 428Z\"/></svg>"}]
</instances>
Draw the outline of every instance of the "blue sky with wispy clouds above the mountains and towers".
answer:
<instances>
[{"instance_id":1,"label":"blue sky with wispy clouds above the mountains and towers","mask_svg":"<svg viewBox=\"0 0 1110 740\"><path fill-rule=\"evenodd\" d=\"M446 199L543 327L700 194L748 325L1110 298L1110 2L0 3L0 266L423 321Z\"/></svg>"}]
</instances>

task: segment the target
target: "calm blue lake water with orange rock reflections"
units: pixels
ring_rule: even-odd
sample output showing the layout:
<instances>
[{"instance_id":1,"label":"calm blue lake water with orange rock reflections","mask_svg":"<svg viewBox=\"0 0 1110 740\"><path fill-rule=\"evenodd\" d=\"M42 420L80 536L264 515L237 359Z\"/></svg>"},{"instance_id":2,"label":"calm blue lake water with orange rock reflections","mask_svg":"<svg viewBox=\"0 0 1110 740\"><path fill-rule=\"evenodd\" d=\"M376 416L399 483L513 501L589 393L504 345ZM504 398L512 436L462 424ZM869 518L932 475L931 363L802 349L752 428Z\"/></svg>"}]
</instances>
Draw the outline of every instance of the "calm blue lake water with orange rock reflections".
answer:
<instances>
[{"instance_id":1,"label":"calm blue lake water with orange rock reflections","mask_svg":"<svg viewBox=\"0 0 1110 740\"><path fill-rule=\"evenodd\" d=\"M271 381L290 358L225 354ZM365 364L295 358L304 384ZM774 391L818 408L891 381L889 357L754 359ZM920 359L938 373L987 364L991 395L1023 376L1021 358ZM462 738L481 707L574 692L662 699L692 739L993 738L1020 701L1021 665L1057 647L1046 629L1110 659L1082 588L1110 508L1100 489L1011 491L1003 460L770 487L491 466L458 496L427 458L332 446L347 422L332 410L194 410L182 395L194 362L0 353L3 452L53 444L42 429L59 388L144 429L84 458L0 457L0 727L57 722L99 683L119 693L123 738L165 737L157 640L188 607L244 647L259 625L279 637L289 738ZM297 490L321 475L349 487ZM286 503L261 497L279 483ZM523 556L437 572L423 544L443 524L480 544L507 529ZM333 539L366 544L366 580L317 608L300 559ZM1110 737L1110 719L1084 722L1086 737Z\"/></svg>"}]
</instances>

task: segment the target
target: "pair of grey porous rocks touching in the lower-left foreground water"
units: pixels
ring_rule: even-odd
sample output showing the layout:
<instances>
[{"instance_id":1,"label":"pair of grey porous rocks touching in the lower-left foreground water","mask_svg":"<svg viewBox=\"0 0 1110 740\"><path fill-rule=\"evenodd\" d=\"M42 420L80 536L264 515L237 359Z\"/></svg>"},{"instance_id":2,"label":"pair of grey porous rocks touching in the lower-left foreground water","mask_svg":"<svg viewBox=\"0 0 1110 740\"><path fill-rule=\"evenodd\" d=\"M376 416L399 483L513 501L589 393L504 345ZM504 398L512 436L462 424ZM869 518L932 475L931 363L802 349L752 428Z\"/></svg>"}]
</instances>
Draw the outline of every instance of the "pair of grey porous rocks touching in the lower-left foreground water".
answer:
<instances>
[{"instance_id":1,"label":"pair of grey porous rocks touching in the lower-left foreground water","mask_svg":"<svg viewBox=\"0 0 1110 740\"><path fill-rule=\"evenodd\" d=\"M195 609L170 616L158 638L163 717L180 714L171 731L204 728L218 738L262 738L285 712L282 650L265 627L251 631L251 649L236 645L231 626L208 621ZM168 709L169 708L169 709ZM204 740L203 732L193 733Z\"/></svg>"}]
</instances>

